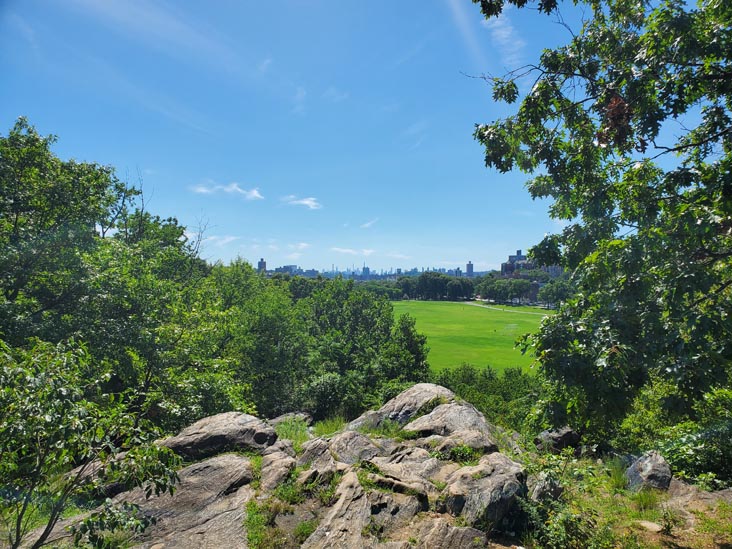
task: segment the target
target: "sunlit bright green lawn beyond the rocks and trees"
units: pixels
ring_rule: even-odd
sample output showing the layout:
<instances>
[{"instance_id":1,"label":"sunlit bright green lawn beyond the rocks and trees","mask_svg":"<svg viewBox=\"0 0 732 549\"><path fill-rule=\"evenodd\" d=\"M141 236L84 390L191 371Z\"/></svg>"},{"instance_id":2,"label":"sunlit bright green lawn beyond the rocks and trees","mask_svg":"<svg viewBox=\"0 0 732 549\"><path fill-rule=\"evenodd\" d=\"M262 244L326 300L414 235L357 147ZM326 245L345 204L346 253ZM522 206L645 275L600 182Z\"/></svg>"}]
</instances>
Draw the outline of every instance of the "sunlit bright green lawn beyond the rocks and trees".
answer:
<instances>
[{"instance_id":1,"label":"sunlit bright green lawn beyond the rocks and trees","mask_svg":"<svg viewBox=\"0 0 732 549\"><path fill-rule=\"evenodd\" d=\"M514 348L516 339L538 329L543 309L533 307L483 307L447 301L395 301L395 314L409 313L417 331L427 336L428 360L433 371L463 362L528 369L532 357Z\"/></svg>"}]
</instances>

